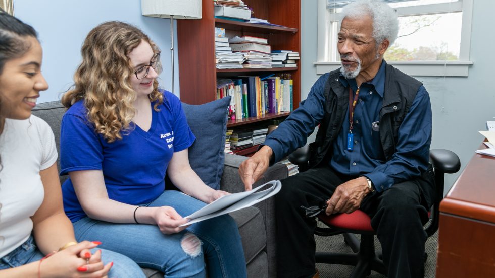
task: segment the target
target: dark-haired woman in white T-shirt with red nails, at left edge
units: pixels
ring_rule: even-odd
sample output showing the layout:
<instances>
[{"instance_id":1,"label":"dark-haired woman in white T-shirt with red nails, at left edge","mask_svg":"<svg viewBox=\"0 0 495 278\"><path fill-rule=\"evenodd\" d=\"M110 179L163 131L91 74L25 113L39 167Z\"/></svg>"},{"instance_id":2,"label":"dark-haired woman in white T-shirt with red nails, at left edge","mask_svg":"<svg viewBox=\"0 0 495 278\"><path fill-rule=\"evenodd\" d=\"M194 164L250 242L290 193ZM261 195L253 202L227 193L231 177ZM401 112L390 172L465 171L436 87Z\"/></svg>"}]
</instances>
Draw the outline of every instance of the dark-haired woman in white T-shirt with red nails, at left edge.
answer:
<instances>
[{"instance_id":1,"label":"dark-haired woman in white T-shirt with red nails, at left edge","mask_svg":"<svg viewBox=\"0 0 495 278\"><path fill-rule=\"evenodd\" d=\"M48 89L41 59L36 31L0 10L0 276L143 276L123 255L105 250L104 264L102 249L91 254L100 242L76 242L63 210L53 132L31 115Z\"/></svg>"}]
</instances>

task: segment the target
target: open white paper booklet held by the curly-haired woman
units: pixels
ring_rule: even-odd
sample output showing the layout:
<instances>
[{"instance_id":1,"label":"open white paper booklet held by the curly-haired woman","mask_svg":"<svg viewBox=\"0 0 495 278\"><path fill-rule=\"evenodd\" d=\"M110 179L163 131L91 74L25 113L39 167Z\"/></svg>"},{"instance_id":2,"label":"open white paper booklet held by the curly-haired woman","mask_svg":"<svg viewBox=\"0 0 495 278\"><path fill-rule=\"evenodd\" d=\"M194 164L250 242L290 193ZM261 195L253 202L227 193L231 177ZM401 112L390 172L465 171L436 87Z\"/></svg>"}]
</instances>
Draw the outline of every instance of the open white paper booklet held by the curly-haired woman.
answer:
<instances>
[{"instance_id":1,"label":"open white paper booklet held by the curly-haired woman","mask_svg":"<svg viewBox=\"0 0 495 278\"><path fill-rule=\"evenodd\" d=\"M282 184L280 181L272 180L253 188L253 190L250 191L224 195L200 208L195 213L184 217L189 219L189 222L180 226L188 226L196 222L232 213L241 210L242 208L252 206L277 194L281 187Z\"/></svg>"}]
</instances>

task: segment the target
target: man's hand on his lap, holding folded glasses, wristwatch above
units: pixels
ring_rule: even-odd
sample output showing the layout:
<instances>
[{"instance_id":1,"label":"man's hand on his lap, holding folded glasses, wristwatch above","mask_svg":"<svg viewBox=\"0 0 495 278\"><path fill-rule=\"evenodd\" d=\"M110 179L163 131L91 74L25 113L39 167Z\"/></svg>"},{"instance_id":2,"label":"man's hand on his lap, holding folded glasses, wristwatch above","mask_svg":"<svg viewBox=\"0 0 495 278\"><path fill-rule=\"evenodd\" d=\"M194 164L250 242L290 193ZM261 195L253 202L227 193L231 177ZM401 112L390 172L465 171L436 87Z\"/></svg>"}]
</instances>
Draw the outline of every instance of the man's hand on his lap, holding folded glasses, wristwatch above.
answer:
<instances>
[{"instance_id":1,"label":"man's hand on his lap, holding folded glasses, wristwatch above","mask_svg":"<svg viewBox=\"0 0 495 278\"><path fill-rule=\"evenodd\" d=\"M365 177L359 177L342 183L335 189L332 197L327 201L327 215L335 213L350 214L356 211L368 193L368 182Z\"/></svg>"}]
</instances>

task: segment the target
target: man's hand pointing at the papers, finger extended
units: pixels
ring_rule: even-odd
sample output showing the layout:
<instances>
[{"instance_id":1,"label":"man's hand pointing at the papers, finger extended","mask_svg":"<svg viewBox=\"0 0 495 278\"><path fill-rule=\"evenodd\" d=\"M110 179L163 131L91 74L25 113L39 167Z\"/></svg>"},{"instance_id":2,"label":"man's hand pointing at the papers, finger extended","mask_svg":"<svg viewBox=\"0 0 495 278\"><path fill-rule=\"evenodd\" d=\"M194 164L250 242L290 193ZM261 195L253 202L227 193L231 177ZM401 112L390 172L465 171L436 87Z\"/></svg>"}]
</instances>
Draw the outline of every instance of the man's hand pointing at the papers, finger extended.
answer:
<instances>
[{"instance_id":1,"label":"man's hand pointing at the papers, finger extended","mask_svg":"<svg viewBox=\"0 0 495 278\"><path fill-rule=\"evenodd\" d=\"M270 165L270 158L273 155L272 148L261 147L252 157L244 160L239 167L239 175L244 183L246 191L253 189L253 183L259 180Z\"/></svg>"}]
</instances>

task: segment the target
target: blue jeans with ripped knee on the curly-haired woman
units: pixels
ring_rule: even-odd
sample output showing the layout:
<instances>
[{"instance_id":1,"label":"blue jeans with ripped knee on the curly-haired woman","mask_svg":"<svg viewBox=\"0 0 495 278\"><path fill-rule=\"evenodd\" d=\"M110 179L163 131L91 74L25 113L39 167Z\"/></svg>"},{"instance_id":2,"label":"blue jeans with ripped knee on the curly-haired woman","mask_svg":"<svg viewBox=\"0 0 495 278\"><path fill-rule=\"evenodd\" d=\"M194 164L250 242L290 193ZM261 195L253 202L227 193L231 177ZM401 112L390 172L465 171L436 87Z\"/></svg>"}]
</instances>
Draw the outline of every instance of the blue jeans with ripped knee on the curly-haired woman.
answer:
<instances>
[{"instance_id":1,"label":"blue jeans with ripped knee on the curly-haired woman","mask_svg":"<svg viewBox=\"0 0 495 278\"><path fill-rule=\"evenodd\" d=\"M175 190L166 190L145 206L171 206L188 216L205 203ZM158 269L165 277L246 277L246 261L234 220L223 215L192 224L180 233L165 235L156 225L119 224L88 217L73 223L77 240L98 239L102 248L125 254L141 267ZM184 238L196 235L199 253L181 247ZM205 266L205 260L207 267Z\"/></svg>"}]
</instances>

